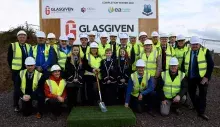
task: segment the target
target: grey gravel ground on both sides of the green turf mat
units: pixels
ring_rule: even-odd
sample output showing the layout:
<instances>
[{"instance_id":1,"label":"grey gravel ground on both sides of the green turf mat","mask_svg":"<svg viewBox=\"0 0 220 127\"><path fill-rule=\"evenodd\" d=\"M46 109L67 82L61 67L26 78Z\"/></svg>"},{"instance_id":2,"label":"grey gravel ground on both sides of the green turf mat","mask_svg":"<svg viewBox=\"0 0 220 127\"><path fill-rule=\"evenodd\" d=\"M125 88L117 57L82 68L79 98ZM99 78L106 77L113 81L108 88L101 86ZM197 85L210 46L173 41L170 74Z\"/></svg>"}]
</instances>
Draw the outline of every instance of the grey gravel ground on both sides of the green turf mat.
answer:
<instances>
[{"instance_id":1,"label":"grey gravel ground on both sides of the green turf mat","mask_svg":"<svg viewBox=\"0 0 220 127\"><path fill-rule=\"evenodd\" d=\"M196 112L183 108L184 114L176 116L172 114L169 117L162 117L156 113L157 117L152 118L147 113L137 114L136 127L219 127L220 126L220 79L213 78L208 92L207 98L207 114L210 120L204 121L197 117ZM12 108L12 92L4 92L0 94L0 127L63 127L66 126L67 113L63 113L59 120L53 122L49 115L45 114L42 119L38 120L34 115L23 117L21 114L13 112Z\"/></svg>"}]
</instances>

